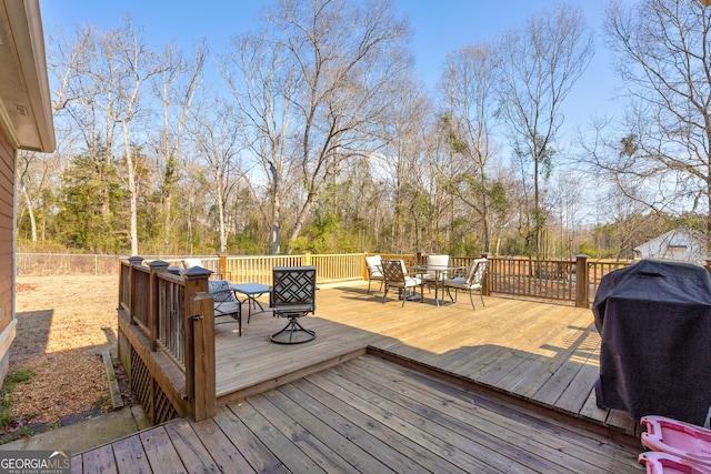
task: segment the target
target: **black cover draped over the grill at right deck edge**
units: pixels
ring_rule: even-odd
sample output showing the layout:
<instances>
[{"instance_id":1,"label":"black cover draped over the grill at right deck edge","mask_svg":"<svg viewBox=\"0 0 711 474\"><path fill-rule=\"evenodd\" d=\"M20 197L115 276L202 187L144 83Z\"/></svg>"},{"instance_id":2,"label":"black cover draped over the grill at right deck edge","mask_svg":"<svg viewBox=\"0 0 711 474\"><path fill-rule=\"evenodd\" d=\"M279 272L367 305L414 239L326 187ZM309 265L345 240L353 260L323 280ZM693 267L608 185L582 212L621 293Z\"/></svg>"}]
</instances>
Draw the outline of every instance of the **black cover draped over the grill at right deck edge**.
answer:
<instances>
[{"instance_id":1,"label":"black cover draped over the grill at right deck edge","mask_svg":"<svg viewBox=\"0 0 711 474\"><path fill-rule=\"evenodd\" d=\"M642 260L603 276L592 307L602 337L600 409L702 425L711 406L711 278Z\"/></svg>"}]
</instances>

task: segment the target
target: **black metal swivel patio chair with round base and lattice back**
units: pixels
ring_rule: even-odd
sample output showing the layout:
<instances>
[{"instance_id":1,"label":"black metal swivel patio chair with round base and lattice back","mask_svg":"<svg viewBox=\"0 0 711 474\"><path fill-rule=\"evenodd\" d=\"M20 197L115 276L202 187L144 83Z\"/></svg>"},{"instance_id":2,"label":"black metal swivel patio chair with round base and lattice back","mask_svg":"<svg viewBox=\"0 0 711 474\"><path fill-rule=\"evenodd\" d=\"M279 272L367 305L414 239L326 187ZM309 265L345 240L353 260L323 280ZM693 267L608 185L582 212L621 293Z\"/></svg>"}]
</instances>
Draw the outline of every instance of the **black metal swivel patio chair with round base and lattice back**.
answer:
<instances>
[{"instance_id":1,"label":"black metal swivel patio chair with round base and lattice back","mask_svg":"<svg viewBox=\"0 0 711 474\"><path fill-rule=\"evenodd\" d=\"M289 322L269 339L278 344L301 344L313 341L316 332L299 322L316 311L316 266L276 266L272 269L272 288L269 306L274 316Z\"/></svg>"}]
</instances>

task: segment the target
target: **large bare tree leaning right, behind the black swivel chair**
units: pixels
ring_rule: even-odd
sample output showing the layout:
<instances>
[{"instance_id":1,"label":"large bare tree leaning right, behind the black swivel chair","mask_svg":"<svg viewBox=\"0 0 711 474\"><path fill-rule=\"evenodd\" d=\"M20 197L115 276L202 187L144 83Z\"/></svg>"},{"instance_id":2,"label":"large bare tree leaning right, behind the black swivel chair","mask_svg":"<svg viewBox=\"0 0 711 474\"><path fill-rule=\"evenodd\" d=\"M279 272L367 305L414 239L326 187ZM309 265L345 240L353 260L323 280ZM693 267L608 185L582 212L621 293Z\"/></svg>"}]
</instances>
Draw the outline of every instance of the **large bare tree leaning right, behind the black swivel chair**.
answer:
<instances>
[{"instance_id":1,"label":"large bare tree leaning right, behind the black swivel chair","mask_svg":"<svg viewBox=\"0 0 711 474\"><path fill-rule=\"evenodd\" d=\"M303 198L286 253L330 177L378 147L370 129L391 98L391 79L409 64L400 49L407 23L391 11L388 0L281 0L269 16L278 32L271 40L302 78L292 152Z\"/></svg>"}]
</instances>

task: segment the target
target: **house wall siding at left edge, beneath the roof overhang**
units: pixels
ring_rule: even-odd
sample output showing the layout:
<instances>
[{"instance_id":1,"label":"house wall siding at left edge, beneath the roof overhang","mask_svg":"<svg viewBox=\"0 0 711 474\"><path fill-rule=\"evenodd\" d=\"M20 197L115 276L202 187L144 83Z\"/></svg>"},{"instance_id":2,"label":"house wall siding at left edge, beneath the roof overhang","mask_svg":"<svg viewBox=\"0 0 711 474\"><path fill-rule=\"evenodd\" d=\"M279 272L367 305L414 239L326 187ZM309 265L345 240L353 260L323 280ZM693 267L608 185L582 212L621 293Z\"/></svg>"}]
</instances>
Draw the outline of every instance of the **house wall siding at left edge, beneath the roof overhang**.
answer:
<instances>
[{"instance_id":1,"label":"house wall siding at left edge, beneath the roof overhang","mask_svg":"<svg viewBox=\"0 0 711 474\"><path fill-rule=\"evenodd\" d=\"M14 150L0 129L0 384L14 339Z\"/></svg>"}]
</instances>

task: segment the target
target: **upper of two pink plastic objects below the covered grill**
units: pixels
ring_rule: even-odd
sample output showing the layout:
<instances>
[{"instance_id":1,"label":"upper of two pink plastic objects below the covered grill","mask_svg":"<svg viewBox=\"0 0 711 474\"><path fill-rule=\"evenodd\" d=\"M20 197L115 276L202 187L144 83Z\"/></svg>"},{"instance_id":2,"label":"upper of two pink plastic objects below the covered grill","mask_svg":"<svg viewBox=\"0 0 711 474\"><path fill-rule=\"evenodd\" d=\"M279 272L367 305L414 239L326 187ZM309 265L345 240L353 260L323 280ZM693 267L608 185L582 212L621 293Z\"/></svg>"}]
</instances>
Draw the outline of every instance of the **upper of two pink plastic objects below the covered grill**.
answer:
<instances>
[{"instance_id":1,"label":"upper of two pink plastic objects below the covered grill","mask_svg":"<svg viewBox=\"0 0 711 474\"><path fill-rule=\"evenodd\" d=\"M647 433L642 433L644 446L703 464L711 471L711 430L664 416L644 416L640 423L647 426Z\"/></svg>"}]
</instances>

